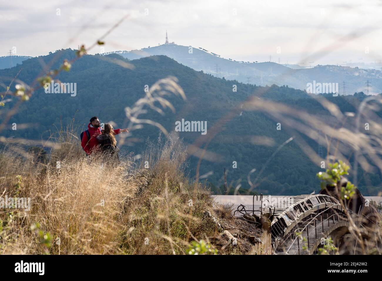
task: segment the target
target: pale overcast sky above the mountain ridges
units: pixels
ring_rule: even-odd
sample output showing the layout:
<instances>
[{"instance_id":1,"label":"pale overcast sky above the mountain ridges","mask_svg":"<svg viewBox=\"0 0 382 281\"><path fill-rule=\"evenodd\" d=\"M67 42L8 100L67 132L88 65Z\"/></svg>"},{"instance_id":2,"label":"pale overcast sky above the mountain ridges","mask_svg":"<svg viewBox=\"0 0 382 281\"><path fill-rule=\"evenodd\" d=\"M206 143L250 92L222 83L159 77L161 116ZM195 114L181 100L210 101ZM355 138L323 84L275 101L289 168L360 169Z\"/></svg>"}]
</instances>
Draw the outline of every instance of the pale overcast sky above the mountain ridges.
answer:
<instances>
[{"instance_id":1,"label":"pale overcast sky above the mountain ridges","mask_svg":"<svg viewBox=\"0 0 382 281\"><path fill-rule=\"evenodd\" d=\"M360 4L362 3L362 4ZM59 10L57 10L59 9ZM59 15L58 15L59 14ZM2 1L0 56L46 55L91 45L141 49L165 41L203 47L225 58L343 64L381 60L382 2L377 0Z\"/></svg>"}]
</instances>

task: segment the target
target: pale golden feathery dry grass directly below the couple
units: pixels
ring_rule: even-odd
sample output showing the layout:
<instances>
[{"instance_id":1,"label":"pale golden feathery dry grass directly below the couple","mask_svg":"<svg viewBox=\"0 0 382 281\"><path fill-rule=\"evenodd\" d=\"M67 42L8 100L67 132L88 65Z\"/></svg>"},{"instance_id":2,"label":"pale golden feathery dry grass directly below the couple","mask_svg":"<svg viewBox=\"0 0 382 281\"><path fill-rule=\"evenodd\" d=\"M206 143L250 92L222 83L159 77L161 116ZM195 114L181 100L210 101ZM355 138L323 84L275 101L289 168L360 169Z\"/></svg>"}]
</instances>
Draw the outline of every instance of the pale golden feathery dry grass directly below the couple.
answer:
<instances>
[{"instance_id":1,"label":"pale golden feathery dry grass directly below the couple","mask_svg":"<svg viewBox=\"0 0 382 281\"><path fill-rule=\"evenodd\" d=\"M4 250L44 252L36 234L30 231L35 222L52 236L50 253L110 253L113 250L113 240L120 227L118 217L138 189L138 183L126 176L131 163L123 162L114 167L104 165L102 158L71 160L63 159L60 168L48 165L42 178L37 177L37 168L31 171L29 180L22 171L13 170L23 175L19 197L30 197L32 208L29 212L12 210L17 213L9 234L14 243ZM8 173L4 179L10 182L14 176L15 173ZM11 194L10 189L6 192ZM5 243L5 239L2 242Z\"/></svg>"}]
</instances>

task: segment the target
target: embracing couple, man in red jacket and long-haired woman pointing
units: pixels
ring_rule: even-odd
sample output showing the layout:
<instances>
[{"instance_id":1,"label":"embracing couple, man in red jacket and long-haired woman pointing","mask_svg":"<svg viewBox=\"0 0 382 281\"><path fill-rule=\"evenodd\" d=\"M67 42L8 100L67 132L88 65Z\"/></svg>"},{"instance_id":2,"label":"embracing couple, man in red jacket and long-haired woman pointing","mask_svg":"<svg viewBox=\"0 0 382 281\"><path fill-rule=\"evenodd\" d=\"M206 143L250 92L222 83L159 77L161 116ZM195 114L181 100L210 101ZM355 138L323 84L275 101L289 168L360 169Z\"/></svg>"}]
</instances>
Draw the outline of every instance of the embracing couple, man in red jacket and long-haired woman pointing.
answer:
<instances>
[{"instance_id":1,"label":"embracing couple, man in red jacket and long-haired woman pointing","mask_svg":"<svg viewBox=\"0 0 382 281\"><path fill-rule=\"evenodd\" d=\"M118 159L118 147L115 135L121 132L129 132L128 129L114 129L111 124L105 124L104 130L101 130L101 123L97 116L90 119L87 130L80 135L81 146L89 156L95 152L103 152L106 156Z\"/></svg>"}]
</instances>

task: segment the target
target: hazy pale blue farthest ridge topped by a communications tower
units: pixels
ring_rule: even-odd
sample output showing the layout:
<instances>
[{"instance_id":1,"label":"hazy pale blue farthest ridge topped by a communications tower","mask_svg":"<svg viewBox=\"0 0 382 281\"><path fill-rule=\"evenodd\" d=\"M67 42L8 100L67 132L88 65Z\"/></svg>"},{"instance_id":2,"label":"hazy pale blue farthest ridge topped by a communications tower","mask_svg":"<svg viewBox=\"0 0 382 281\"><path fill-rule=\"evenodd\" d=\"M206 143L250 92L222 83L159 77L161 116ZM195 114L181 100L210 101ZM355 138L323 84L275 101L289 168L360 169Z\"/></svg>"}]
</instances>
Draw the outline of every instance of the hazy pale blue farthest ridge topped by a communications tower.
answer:
<instances>
[{"instance_id":1,"label":"hazy pale blue farthest ridge topped by a communications tower","mask_svg":"<svg viewBox=\"0 0 382 281\"><path fill-rule=\"evenodd\" d=\"M338 83L339 94L367 92L366 82L369 81L369 93L382 93L382 72L380 70L364 70L336 65L317 65L303 68L299 65L281 65L275 62L238 62L231 58L222 58L219 54L209 52L202 47L162 44L141 50L115 52L129 60L151 55L166 55L177 62L204 71L219 78L237 80L242 83L259 86L288 85L306 90L308 83Z\"/></svg>"}]
</instances>

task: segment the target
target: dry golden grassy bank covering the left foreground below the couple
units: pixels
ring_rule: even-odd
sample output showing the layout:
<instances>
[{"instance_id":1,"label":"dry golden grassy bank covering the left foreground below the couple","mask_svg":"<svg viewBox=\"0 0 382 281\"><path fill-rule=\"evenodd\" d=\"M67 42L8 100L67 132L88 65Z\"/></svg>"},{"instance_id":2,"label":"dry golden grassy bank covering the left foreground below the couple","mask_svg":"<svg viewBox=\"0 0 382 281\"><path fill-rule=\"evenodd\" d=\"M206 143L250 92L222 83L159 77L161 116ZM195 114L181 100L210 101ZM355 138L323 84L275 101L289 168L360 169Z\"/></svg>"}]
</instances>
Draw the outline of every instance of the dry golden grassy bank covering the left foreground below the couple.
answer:
<instances>
[{"instance_id":1,"label":"dry golden grassy bank covering the left foreground below the couple","mask_svg":"<svg viewBox=\"0 0 382 281\"><path fill-rule=\"evenodd\" d=\"M21 175L18 197L31 198L30 211L0 213L1 253L185 253L190 241L217 234L215 224L202 219L213 200L183 175L186 150L174 135L160 146L149 145L140 162L114 165L99 156L87 159L73 136L66 132L58 138L48 164L17 149L0 154L5 194L14 194ZM31 229L35 223L40 235ZM44 239L47 233L50 238Z\"/></svg>"}]
</instances>

